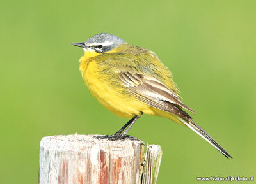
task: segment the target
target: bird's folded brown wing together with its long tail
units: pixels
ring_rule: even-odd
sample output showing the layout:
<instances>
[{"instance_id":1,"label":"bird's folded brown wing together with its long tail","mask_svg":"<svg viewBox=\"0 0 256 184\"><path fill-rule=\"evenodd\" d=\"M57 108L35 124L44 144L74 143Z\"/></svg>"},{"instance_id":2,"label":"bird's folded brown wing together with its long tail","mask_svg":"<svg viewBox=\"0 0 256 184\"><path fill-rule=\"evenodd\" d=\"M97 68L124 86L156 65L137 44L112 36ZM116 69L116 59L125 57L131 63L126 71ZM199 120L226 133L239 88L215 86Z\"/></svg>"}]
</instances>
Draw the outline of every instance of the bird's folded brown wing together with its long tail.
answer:
<instances>
[{"instance_id":1,"label":"bird's folded brown wing together with its long tail","mask_svg":"<svg viewBox=\"0 0 256 184\"><path fill-rule=\"evenodd\" d=\"M175 92L166 87L161 81L156 78L144 76L143 74L127 71L120 72L119 76L125 87L127 87L138 100L159 110L177 115L181 122L211 143L211 145L217 148L223 155L225 155L225 157L232 158L218 143L216 143L216 141L214 141L214 139L211 138L211 136L209 136L209 134L207 134L207 132L204 131L204 129L193 122L192 118L188 113L183 111L182 108L186 108L191 112L194 111L182 103Z\"/></svg>"}]
</instances>

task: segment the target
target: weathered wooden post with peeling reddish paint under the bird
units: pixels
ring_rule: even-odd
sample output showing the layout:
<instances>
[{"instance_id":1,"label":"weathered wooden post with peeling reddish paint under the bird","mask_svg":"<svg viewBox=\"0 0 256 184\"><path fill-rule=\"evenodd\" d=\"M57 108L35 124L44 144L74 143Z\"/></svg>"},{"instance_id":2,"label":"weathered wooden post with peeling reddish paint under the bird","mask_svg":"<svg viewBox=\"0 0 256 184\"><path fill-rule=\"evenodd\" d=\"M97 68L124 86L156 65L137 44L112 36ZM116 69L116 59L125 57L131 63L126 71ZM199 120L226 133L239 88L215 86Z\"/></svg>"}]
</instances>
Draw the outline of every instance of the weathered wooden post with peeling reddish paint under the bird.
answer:
<instances>
[{"instance_id":1,"label":"weathered wooden post with peeling reddish paint under the bird","mask_svg":"<svg viewBox=\"0 0 256 184\"><path fill-rule=\"evenodd\" d=\"M95 135L49 136L40 142L40 184L154 184L161 147Z\"/></svg>"}]
</instances>

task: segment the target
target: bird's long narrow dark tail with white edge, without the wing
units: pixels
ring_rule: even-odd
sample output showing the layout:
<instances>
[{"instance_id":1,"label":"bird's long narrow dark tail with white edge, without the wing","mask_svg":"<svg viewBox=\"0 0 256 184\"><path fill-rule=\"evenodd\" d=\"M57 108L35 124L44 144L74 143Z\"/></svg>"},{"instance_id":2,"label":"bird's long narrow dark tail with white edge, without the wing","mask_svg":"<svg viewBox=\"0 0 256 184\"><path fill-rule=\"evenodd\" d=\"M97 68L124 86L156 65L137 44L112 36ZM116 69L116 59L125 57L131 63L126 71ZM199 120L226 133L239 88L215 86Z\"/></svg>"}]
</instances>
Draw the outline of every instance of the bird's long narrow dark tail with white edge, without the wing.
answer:
<instances>
[{"instance_id":1,"label":"bird's long narrow dark tail with white edge, without the wing","mask_svg":"<svg viewBox=\"0 0 256 184\"><path fill-rule=\"evenodd\" d=\"M207 132L204 131L204 129L196 125L195 122L193 122L193 120L186 121L186 120L183 120L182 118L179 118L179 120L182 123L184 123L186 126L188 126L191 130L196 132L196 134L204 138L208 143L214 146L217 150L219 150L225 157L227 157L228 159L229 158L232 159L232 157L216 141L214 141L214 139L212 139L211 136L209 136L209 134L207 134Z\"/></svg>"}]
</instances>

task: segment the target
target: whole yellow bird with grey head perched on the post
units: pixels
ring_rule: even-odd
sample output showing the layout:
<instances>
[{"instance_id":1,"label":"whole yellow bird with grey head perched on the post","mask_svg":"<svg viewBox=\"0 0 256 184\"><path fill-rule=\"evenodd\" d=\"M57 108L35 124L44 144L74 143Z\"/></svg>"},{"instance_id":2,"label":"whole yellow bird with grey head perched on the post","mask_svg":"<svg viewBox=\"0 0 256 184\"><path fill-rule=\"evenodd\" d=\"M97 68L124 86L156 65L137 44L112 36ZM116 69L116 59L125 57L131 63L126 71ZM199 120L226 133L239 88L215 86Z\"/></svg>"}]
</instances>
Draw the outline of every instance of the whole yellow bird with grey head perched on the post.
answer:
<instances>
[{"instance_id":1,"label":"whole yellow bird with grey head perched on the post","mask_svg":"<svg viewBox=\"0 0 256 184\"><path fill-rule=\"evenodd\" d=\"M79 70L92 95L115 115L130 119L115 134L97 138L125 139L141 115L156 115L189 127L225 157L232 158L185 111L195 113L182 103L172 73L156 53L109 33L72 45L84 50Z\"/></svg>"}]
</instances>

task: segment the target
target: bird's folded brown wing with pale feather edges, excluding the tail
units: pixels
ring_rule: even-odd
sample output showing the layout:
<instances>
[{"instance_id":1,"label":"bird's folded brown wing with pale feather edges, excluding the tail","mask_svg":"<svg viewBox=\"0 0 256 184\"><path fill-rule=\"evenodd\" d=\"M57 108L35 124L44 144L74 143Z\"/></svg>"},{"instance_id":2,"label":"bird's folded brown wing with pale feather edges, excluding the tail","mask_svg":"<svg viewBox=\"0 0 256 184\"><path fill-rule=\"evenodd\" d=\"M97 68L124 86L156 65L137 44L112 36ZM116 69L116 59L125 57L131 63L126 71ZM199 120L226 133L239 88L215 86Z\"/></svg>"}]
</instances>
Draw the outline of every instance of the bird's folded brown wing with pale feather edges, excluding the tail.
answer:
<instances>
[{"instance_id":1,"label":"bird's folded brown wing with pale feather edges, excluding the tail","mask_svg":"<svg viewBox=\"0 0 256 184\"><path fill-rule=\"evenodd\" d=\"M175 92L170 90L170 88L166 87L166 85L156 78L127 71L120 72L119 76L124 85L128 87L132 94L134 94L140 101L159 110L178 115L181 118L191 119L188 113L183 111L182 108L193 113L194 111L182 103Z\"/></svg>"}]
</instances>

